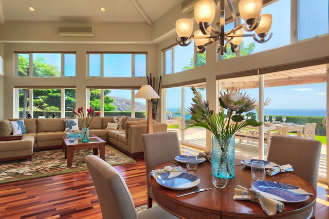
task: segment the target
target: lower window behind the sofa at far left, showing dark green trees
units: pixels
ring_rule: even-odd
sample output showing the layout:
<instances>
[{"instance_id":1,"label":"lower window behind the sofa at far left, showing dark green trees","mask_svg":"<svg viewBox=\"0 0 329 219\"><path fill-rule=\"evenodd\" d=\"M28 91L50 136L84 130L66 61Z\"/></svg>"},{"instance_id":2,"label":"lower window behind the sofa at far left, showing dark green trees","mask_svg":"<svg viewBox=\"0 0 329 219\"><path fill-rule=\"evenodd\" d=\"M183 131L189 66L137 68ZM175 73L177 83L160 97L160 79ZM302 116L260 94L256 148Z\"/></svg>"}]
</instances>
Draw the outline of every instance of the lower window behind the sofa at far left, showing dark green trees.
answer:
<instances>
[{"instance_id":1,"label":"lower window behind the sofa at far left, showing dark green trees","mask_svg":"<svg viewBox=\"0 0 329 219\"><path fill-rule=\"evenodd\" d=\"M27 118L29 113L33 118L51 118L53 113L57 117L74 117L72 110L76 108L76 89L16 90L19 118Z\"/></svg>"}]
</instances>

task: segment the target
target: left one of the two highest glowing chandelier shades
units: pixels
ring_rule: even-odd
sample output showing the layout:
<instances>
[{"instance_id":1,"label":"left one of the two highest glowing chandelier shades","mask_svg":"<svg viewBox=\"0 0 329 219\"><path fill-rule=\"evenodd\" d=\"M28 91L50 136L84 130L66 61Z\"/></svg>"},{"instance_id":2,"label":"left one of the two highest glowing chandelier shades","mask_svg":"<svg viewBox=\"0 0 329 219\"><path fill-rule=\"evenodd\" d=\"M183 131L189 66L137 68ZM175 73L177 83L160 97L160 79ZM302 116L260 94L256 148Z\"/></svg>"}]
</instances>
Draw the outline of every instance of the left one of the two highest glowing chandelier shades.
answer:
<instances>
[{"instance_id":1,"label":"left one of the two highest glowing chandelier shades","mask_svg":"<svg viewBox=\"0 0 329 219\"><path fill-rule=\"evenodd\" d=\"M197 23L212 23L216 14L216 4L211 0L201 0L194 5L194 17Z\"/></svg>"}]
</instances>

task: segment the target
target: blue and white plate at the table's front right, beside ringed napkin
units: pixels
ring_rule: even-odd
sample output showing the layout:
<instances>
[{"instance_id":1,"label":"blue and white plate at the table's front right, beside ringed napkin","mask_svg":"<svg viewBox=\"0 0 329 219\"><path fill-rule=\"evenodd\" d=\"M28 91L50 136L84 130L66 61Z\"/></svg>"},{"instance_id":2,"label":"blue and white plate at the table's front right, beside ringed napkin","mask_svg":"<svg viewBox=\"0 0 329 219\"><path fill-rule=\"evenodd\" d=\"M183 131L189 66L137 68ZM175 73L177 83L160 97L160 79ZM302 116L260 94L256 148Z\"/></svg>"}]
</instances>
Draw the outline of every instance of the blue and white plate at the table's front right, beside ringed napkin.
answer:
<instances>
[{"instance_id":1,"label":"blue and white plate at the table's front right, beside ringed napkin","mask_svg":"<svg viewBox=\"0 0 329 219\"><path fill-rule=\"evenodd\" d=\"M308 193L297 187L290 184L276 182L276 181L260 181L254 182L251 185L256 191L259 191L262 195L266 197L273 198L280 202L286 203L296 203L304 202L308 200Z\"/></svg>"}]
</instances>

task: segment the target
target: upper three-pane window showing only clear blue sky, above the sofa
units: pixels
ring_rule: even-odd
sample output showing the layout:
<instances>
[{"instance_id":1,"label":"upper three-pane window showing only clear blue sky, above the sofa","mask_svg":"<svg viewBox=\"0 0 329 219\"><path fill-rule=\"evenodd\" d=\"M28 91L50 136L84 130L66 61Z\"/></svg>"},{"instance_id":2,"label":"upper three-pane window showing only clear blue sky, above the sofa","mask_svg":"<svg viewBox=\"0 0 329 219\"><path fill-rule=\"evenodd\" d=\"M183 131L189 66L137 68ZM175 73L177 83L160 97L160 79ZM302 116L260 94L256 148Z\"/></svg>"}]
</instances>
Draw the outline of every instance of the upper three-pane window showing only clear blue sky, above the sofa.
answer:
<instances>
[{"instance_id":1,"label":"upper three-pane window showing only clear blue sky, above the sofa","mask_svg":"<svg viewBox=\"0 0 329 219\"><path fill-rule=\"evenodd\" d=\"M145 77L147 54L88 54L88 64L89 77Z\"/></svg>"}]
</instances>

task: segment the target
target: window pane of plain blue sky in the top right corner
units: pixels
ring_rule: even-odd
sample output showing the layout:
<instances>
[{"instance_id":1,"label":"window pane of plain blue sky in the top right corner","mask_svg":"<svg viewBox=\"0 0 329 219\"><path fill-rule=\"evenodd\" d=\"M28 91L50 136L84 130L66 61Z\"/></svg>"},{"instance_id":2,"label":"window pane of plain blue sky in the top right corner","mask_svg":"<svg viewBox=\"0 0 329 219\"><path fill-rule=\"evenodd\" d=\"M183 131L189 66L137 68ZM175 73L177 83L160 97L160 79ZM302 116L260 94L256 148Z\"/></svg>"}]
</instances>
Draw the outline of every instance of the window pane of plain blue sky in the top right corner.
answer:
<instances>
[{"instance_id":1,"label":"window pane of plain blue sky in the top right corner","mask_svg":"<svg viewBox=\"0 0 329 219\"><path fill-rule=\"evenodd\" d=\"M328 33L328 5L327 0L298 1L298 41Z\"/></svg>"}]
</instances>

